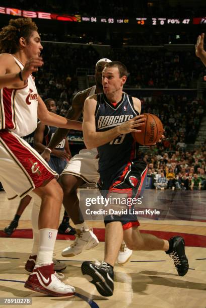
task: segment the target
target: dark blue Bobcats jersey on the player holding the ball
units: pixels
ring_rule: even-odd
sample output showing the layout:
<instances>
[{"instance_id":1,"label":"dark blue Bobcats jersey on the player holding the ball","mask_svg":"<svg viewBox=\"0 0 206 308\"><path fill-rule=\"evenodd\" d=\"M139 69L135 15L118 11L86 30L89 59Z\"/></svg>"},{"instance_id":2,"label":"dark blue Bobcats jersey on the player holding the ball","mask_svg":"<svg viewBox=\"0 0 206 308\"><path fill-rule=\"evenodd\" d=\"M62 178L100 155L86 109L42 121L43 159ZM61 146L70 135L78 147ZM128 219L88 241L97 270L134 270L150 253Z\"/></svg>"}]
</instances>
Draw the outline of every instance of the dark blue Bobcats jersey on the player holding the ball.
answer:
<instances>
[{"instance_id":1,"label":"dark blue Bobcats jersey on the player holding the ball","mask_svg":"<svg viewBox=\"0 0 206 308\"><path fill-rule=\"evenodd\" d=\"M110 103L106 96L97 94L97 107L95 112L96 131L106 131L139 115L134 109L132 98L126 93L122 94L119 103ZM136 157L138 144L135 143L131 133L121 134L109 143L99 146L99 172L101 174L115 174Z\"/></svg>"}]
</instances>

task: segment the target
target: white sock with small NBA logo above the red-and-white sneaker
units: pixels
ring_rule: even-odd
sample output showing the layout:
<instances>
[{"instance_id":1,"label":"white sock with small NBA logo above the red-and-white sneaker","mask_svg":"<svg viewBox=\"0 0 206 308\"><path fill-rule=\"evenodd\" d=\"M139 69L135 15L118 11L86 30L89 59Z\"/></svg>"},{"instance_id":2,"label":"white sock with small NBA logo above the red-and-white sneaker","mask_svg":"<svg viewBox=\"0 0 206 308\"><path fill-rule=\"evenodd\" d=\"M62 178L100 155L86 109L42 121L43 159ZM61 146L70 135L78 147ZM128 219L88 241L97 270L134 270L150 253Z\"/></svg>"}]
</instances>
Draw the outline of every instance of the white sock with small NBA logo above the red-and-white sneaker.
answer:
<instances>
[{"instance_id":1,"label":"white sock with small NBA logo above the red-and-white sneaker","mask_svg":"<svg viewBox=\"0 0 206 308\"><path fill-rule=\"evenodd\" d=\"M39 251L36 259L36 267L49 265L52 263L54 244L56 241L56 229L39 230Z\"/></svg>"}]
</instances>

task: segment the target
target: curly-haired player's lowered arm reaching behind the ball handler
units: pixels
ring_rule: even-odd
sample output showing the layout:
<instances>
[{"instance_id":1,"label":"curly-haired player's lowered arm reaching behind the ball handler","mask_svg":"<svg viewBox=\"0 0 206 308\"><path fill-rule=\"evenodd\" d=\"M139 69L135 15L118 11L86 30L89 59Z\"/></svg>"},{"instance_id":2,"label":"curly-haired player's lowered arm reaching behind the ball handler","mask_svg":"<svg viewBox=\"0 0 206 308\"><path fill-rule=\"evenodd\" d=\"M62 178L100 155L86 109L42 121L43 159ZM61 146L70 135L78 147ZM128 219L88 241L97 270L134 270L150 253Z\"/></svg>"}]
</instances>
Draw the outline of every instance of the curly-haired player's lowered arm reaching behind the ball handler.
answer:
<instances>
[{"instance_id":1,"label":"curly-haired player's lowered arm reaching behind the ball handler","mask_svg":"<svg viewBox=\"0 0 206 308\"><path fill-rule=\"evenodd\" d=\"M38 98L38 119L42 124L67 129L82 130L82 122L66 119L57 114L49 112L40 97Z\"/></svg>"}]
</instances>

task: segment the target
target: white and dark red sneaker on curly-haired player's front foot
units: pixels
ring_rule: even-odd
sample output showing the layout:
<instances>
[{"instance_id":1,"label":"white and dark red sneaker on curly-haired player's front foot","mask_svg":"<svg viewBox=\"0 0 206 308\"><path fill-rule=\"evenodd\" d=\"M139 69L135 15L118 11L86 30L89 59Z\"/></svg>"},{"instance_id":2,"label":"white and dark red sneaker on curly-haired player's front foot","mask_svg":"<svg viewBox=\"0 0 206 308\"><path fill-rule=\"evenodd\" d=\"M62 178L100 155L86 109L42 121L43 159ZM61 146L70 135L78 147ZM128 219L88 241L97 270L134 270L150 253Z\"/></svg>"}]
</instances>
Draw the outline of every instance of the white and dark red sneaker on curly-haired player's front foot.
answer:
<instances>
[{"instance_id":1,"label":"white and dark red sneaker on curly-haired player's front foot","mask_svg":"<svg viewBox=\"0 0 206 308\"><path fill-rule=\"evenodd\" d=\"M62 275L62 276L60 276ZM63 283L59 278L63 274L55 273L53 263L35 268L25 282L25 288L41 292L49 296L72 296L75 288Z\"/></svg>"}]
</instances>

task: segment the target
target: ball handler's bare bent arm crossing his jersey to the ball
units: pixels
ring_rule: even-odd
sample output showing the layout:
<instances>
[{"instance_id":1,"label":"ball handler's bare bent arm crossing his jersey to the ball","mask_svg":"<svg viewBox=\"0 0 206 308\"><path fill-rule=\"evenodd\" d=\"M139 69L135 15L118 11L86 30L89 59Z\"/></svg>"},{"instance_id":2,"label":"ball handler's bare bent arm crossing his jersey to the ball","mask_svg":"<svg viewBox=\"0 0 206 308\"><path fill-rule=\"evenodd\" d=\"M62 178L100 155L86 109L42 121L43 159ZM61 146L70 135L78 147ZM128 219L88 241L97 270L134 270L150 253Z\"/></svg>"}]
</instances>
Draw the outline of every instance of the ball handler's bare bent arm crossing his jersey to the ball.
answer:
<instances>
[{"instance_id":1,"label":"ball handler's bare bent arm crossing his jersey to the ball","mask_svg":"<svg viewBox=\"0 0 206 308\"><path fill-rule=\"evenodd\" d=\"M94 148L106 144L121 134L139 131L137 128L145 123L145 117L140 115L107 131L97 132L95 124L96 95L86 99L84 105L83 134L87 148Z\"/></svg>"}]
</instances>

